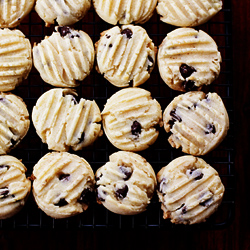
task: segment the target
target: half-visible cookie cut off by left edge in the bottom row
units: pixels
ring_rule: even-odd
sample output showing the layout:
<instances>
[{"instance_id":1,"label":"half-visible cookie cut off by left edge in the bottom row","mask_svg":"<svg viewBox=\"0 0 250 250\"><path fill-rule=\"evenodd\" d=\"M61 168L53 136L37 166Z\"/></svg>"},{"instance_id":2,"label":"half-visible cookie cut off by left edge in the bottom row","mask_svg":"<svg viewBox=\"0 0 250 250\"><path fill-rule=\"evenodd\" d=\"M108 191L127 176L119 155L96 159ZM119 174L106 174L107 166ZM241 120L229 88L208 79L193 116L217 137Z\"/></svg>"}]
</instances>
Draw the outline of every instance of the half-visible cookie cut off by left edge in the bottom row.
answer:
<instances>
[{"instance_id":1,"label":"half-visible cookie cut off by left edge in the bottom row","mask_svg":"<svg viewBox=\"0 0 250 250\"><path fill-rule=\"evenodd\" d=\"M31 188L26 167L13 156L0 156L0 219L7 219L24 206Z\"/></svg>"}]
</instances>

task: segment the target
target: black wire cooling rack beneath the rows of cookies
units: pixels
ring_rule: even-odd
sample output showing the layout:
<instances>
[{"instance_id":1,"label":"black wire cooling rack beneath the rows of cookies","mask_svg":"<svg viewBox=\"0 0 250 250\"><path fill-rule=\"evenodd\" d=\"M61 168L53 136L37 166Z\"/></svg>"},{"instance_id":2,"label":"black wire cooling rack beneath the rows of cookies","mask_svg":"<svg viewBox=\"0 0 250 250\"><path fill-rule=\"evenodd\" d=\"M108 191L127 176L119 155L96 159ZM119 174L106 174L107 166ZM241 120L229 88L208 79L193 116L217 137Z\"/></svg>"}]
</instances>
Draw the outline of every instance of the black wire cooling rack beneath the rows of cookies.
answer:
<instances>
[{"instance_id":1,"label":"black wire cooling rack beneath the rows of cookies","mask_svg":"<svg viewBox=\"0 0 250 250\"><path fill-rule=\"evenodd\" d=\"M134 216L122 216L114 214L102 205L92 202L84 213L67 219L52 219L38 209L32 194L25 207L17 215L10 219L0 220L0 229L221 229L228 227L234 219L234 200L235 200L235 170L234 170L234 115L233 115L233 86L232 86L232 9L231 1L224 1L223 9L214 16L208 23L196 27L207 32L214 38L221 52L223 62L219 78L209 87L203 89L204 92L217 92L223 99L230 118L230 129L225 140L218 148L202 157L212 165L218 172L225 186L225 195L218 211L216 211L205 223L192 226L174 225L169 220L162 218L157 195L155 194L146 212ZM175 29L171 25L160 21L155 13L153 17L142 25L154 41L159 46L166 34ZM99 40L100 33L112 27L102 21L95 13L93 7L83 20L73 25L75 29L82 29L87 32L93 42ZM22 22L20 29L32 44L39 43L45 36L49 36L54 31L54 26L49 28L44 26L44 22L33 10ZM156 98L164 110L171 100L180 94L178 91L171 90L160 78L157 65L151 73L150 79L140 87L149 90ZM37 99L47 90L53 88L43 82L39 73L33 67L29 78L18 86L13 93L22 97L27 104L31 115L32 108ZM107 82L95 69L92 70L80 87L76 88L79 97L95 100L100 108L103 109L107 99L118 91ZM156 143L149 149L138 152L145 157L153 166L157 173L162 167L166 166L171 160L182 156L180 150L173 149L167 142L168 135L163 128L160 128L160 135ZM90 147L78 152L70 152L85 158L92 166L94 172L104 165L109 155L118 151L107 140L105 135ZM45 144L37 136L32 125L28 134L18 147L10 152L11 155L22 159L27 167L27 175L30 176L33 166L48 151Z\"/></svg>"}]
</instances>

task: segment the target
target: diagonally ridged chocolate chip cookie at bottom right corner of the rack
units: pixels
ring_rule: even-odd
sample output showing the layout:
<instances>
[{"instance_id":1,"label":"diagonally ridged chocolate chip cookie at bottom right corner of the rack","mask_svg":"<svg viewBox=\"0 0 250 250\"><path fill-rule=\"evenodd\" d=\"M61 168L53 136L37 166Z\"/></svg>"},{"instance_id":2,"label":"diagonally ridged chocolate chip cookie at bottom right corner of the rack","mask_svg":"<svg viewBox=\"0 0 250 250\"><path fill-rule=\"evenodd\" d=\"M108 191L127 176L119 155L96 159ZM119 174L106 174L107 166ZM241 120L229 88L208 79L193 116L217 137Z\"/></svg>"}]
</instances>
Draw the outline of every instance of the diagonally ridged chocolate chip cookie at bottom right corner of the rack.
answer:
<instances>
[{"instance_id":1,"label":"diagonally ridged chocolate chip cookie at bottom right corner of the rack","mask_svg":"<svg viewBox=\"0 0 250 250\"><path fill-rule=\"evenodd\" d=\"M171 161L159 171L157 181L163 218L176 224L206 221L217 210L225 190L217 171L194 156Z\"/></svg>"}]
</instances>

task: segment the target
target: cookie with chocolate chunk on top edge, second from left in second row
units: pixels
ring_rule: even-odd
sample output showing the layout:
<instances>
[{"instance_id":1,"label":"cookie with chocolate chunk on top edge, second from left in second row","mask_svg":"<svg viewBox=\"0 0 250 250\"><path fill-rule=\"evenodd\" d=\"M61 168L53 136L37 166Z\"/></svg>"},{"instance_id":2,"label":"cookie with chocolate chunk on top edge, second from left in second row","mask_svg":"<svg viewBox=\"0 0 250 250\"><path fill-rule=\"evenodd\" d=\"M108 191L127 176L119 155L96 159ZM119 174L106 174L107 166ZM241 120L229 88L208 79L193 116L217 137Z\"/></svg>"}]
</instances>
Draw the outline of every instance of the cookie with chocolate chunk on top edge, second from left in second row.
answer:
<instances>
[{"instance_id":1,"label":"cookie with chocolate chunk on top edge, second from left in second row","mask_svg":"<svg viewBox=\"0 0 250 250\"><path fill-rule=\"evenodd\" d=\"M93 67L93 42L81 30L60 26L56 31L34 46L34 66L45 82L57 87L76 87Z\"/></svg>"}]
</instances>

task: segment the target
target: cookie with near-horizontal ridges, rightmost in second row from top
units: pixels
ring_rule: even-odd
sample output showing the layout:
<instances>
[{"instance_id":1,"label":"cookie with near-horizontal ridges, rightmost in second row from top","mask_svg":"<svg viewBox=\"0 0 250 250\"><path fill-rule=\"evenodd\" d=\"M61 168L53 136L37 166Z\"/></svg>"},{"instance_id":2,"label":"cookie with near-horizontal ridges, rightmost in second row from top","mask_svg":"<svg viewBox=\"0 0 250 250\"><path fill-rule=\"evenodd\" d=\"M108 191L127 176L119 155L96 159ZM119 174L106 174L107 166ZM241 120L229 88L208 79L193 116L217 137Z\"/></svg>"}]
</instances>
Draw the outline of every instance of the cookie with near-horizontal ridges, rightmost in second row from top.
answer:
<instances>
[{"instance_id":1,"label":"cookie with near-horizontal ridges, rightmost in second row from top","mask_svg":"<svg viewBox=\"0 0 250 250\"><path fill-rule=\"evenodd\" d=\"M202 30L176 29L159 47L160 75L170 88L179 91L211 84L219 76L221 61L215 41Z\"/></svg>"}]
</instances>

